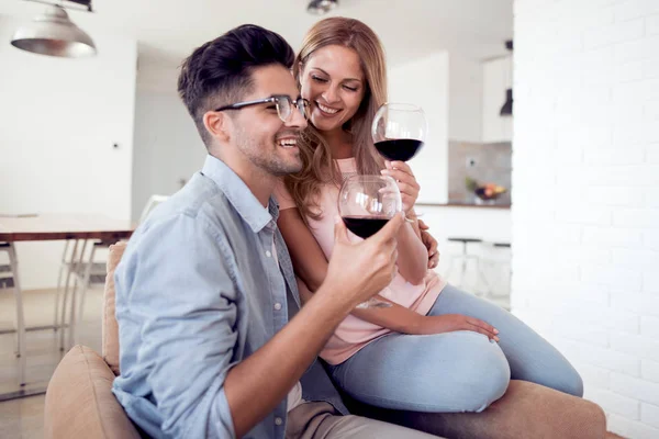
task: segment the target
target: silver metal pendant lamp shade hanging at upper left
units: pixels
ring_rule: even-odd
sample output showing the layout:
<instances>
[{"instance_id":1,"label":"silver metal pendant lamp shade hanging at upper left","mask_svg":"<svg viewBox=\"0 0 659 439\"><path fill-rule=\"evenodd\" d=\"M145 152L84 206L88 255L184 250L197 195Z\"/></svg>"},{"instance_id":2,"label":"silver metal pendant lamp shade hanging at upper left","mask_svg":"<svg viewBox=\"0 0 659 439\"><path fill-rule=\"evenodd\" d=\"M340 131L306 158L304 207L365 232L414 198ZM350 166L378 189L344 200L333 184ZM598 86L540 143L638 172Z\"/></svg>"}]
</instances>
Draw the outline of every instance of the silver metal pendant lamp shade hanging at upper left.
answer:
<instances>
[{"instance_id":1,"label":"silver metal pendant lamp shade hanging at upper left","mask_svg":"<svg viewBox=\"0 0 659 439\"><path fill-rule=\"evenodd\" d=\"M81 58L96 55L93 41L69 20L64 8L49 5L44 14L19 27L11 44L34 54Z\"/></svg>"}]
</instances>

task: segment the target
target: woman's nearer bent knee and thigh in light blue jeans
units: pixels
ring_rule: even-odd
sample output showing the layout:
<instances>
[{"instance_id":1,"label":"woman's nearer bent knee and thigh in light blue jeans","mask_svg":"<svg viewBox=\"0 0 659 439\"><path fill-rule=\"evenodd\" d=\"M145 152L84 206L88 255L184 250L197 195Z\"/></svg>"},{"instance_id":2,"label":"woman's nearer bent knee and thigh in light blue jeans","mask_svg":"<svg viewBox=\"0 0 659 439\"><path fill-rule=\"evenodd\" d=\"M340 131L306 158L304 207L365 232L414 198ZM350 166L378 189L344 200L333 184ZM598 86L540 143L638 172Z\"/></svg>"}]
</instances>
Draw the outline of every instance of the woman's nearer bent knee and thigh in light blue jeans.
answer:
<instances>
[{"instance_id":1,"label":"woman's nearer bent knee and thigh in light blue jeans","mask_svg":"<svg viewBox=\"0 0 659 439\"><path fill-rule=\"evenodd\" d=\"M422 361L411 362L409 354L389 357L379 372L346 363L333 368L333 378L358 401L417 412L481 412L507 390L509 362L499 345L483 335L457 331L424 341Z\"/></svg>"}]
</instances>

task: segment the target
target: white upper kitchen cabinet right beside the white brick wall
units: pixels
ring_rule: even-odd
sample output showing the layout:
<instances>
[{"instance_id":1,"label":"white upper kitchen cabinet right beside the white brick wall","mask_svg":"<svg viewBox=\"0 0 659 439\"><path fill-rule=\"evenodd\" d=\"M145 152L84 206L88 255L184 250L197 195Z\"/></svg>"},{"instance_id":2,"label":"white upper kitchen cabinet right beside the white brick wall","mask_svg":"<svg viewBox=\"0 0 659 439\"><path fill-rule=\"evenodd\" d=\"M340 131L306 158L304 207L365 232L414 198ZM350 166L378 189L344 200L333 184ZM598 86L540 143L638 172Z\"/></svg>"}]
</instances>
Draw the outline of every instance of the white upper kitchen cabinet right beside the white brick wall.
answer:
<instances>
[{"instance_id":1,"label":"white upper kitchen cabinet right beside the white brick wall","mask_svg":"<svg viewBox=\"0 0 659 439\"><path fill-rule=\"evenodd\" d=\"M512 72L512 56L483 63L483 143L511 142L513 138L513 117L499 114L506 89L513 87Z\"/></svg>"}]
</instances>

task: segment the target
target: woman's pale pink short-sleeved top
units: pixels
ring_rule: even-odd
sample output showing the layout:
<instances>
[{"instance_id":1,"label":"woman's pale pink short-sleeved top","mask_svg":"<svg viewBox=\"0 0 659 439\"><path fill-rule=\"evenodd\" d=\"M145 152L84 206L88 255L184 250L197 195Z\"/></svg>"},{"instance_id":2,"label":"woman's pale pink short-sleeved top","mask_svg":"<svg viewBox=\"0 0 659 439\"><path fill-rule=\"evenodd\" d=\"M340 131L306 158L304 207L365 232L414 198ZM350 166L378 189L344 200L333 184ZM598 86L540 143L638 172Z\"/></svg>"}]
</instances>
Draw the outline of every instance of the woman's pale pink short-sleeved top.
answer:
<instances>
[{"instance_id":1,"label":"woman's pale pink short-sleeved top","mask_svg":"<svg viewBox=\"0 0 659 439\"><path fill-rule=\"evenodd\" d=\"M344 178L357 173L354 158L340 159L336 162ZM275 195L280 210L295 207L295 203L283 183L278 184L275 189ZM325 184L321 190L319 203L322 216L320 219L308 218L311 233L323 249L327 260L330 260L334 247L334 217L338 215L337 201L338 188L334 184ZM361 240L360 237L351 233L349 233L349 236L354 241ZM435 304L445 285L446 282L433 270L427 271L424 281L418 285L411 284L396 272L393 281L380 292L380 295L425 315ZM301 290L306 290L306 285L300 280L298 280L298 286ZM339 364L376 338L389 333L391 333L391 329L349 315L338 325L336 331L323 348L321 357L331 364Z\"/></svg>"}]
</instances>

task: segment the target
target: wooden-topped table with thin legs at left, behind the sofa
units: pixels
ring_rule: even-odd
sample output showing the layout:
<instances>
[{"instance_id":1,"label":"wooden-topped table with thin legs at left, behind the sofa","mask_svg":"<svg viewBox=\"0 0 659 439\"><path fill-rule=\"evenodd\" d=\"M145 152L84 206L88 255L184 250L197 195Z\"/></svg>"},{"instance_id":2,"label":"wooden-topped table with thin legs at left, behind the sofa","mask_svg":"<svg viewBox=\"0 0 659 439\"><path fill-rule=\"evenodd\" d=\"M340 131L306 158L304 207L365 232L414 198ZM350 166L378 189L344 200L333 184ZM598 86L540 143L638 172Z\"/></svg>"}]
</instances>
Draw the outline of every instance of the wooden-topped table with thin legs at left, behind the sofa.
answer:
<instances>
[{"instance_id":1,"label":"wooden-topped table with thin legs at left, behind the sofa","mask_svg":"<svg viewBox=\"0 0 659 439\"><path fill-rule=\"evenodd\" d=\"M93 214L38 214L38 215L0 215L0 243L7 243L3 249L9 252L11 271L14 280L16 299L16 319L19 335L19 356L21 385L25 384L25 328L23 316L22 292L19 281L19 261L14 243L38 240L74 239L76 243L89 239L99 239L108 243L125 239L131 236L134 225L129 221L109 218ZM74 247L71 261L77 258L77 244ZM82 262L82 255L80 255ZM68 288L68 278L66 285ZM75 297L71 299L71 322L69 324L69 338L72 340L75 324ZM64 346L64 330L62 331Z\"/></svg>"}]
</instances>

